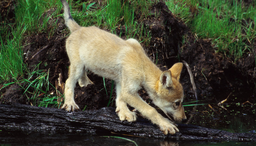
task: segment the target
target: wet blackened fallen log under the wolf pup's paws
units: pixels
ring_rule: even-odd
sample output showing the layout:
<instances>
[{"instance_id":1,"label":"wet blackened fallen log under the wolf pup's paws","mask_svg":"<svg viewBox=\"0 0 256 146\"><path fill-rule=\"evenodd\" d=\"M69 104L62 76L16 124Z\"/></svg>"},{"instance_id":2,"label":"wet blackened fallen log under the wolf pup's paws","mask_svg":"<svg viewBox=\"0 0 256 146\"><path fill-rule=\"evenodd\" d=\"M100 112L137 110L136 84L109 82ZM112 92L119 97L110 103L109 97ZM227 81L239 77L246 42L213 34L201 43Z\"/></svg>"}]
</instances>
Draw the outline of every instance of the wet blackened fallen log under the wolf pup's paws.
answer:
<instances>
[{"instance_id":1,"label":"wet blackened fallen log under the wolf pup's paws","mask_svg":"<svg viewBox=\"0 0 256 146\"><path fill-rule=\"evenodd\" d=\"M116 133L175 140L256 142L256 135L248 133L231 133L189 124L178 124L178 128L180 132L174 135L163 135L156 125L144 118L139 117L135 123L121 122L114 108L69 113L56 108L0 104L0 130L44 134Z\"/></svg>"}]
</instances>

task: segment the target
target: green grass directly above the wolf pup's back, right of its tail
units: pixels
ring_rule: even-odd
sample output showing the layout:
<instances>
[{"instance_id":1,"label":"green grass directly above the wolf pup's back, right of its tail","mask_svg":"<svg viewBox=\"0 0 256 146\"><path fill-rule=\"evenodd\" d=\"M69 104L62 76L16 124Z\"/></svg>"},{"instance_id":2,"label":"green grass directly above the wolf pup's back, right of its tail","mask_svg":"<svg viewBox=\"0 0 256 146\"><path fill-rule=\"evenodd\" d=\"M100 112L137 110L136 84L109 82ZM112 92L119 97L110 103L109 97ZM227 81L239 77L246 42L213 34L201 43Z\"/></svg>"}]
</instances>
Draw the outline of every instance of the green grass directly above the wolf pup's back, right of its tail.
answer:
<instances>
[{"instance_id":1,"label":"green grass directly above the wolf pup's back, right of its tail","mask_svg":"<svg viewBox=\"0 0 256 146\"><path fill-rule=\"evenodd\" d=\"M103 3L103 4L102 4ZM80 1L69 3L71 5L71 15L81 26L97 26L116 34L117 29L125 30L124 35L127 38L136 38L145 45L150 42L151 34L145 26L136 20L136 14L143 16L150 15L148 8L153 4L151 0L106 0L98 3L90 3ZM145 5L147 4L147 5ZM79 11L79 7L83 7ZM120 34L121 35L121 34Z\"/></svg>"}]
</instances>

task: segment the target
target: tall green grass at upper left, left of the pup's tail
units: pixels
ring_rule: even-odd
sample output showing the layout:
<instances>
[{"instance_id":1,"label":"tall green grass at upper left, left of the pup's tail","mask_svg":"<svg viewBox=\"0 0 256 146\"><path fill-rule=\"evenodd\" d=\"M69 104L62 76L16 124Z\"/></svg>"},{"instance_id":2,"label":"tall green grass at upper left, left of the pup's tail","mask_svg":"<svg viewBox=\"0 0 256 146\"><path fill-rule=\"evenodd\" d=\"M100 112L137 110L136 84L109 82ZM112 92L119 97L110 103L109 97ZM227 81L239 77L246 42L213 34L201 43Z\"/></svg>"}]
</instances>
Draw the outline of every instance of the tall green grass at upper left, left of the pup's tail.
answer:
<instances>
[{"instance_id":1,"label":"tall green grass at upper left, left of the pup's tail","mask_svg":"<svg viewBox=\"0 0 256 146\"><path fill-rule=\"evenodd\" d=\"M47 24L52 15L42 18L42 14L58 4L57 1L18 0L15 6L15 23L1 24L3 27L0 29L0 84L28 72L23 63L22 40L26 35L48 30Z\"/></svg>"}]
</instances>

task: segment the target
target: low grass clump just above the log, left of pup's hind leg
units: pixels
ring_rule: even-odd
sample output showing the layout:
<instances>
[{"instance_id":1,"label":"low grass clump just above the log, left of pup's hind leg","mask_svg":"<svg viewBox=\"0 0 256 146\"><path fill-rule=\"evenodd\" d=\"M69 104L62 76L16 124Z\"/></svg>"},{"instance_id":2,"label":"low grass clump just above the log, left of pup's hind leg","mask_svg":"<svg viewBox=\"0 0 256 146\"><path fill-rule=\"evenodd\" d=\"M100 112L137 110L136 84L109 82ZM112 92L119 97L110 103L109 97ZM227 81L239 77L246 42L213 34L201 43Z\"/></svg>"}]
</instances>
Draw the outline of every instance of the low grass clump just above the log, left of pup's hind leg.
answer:
<instances>
[{"instance_id":1,"label":"low grass clump just above the log, left of pup's hind leg","mask_svg":"<svg viewBox=\"0 0 256 146\"><path fill-rule=\"evenodd\" d=\"M34 68L33 71L28 73L27 78L22 80L17 80L13 78L13 82L4 84L3 88L11 85L18 84L20 89L23 89L23 96L26 96L28 101L33 106L39 107L58 107L60 108L61 102L58 102L58 99L63 97L59 91L49 82L49 70L40 70L40 63ZM53 88L54 91L59 92L61 97L57 97L53 92L50 92L50 88Z\"/></svg>"}]
</instances>

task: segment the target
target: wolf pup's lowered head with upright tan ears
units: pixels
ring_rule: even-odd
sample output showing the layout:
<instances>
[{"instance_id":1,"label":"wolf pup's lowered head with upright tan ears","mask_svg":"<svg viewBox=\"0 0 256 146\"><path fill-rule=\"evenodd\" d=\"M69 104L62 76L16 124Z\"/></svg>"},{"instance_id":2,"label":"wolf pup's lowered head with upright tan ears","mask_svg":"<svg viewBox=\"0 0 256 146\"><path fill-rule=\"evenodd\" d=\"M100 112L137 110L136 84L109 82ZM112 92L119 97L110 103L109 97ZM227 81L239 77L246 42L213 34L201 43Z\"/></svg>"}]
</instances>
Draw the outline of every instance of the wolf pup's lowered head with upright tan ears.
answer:
<instances>
[{"instance_id":1,"label":"wolf pup's lowered head with upright tan ears","mask_svg":"<svg viewBox=\"0 0 256 146\"><path fill-rule=\"evenodd\" d=\"M157 98L153 100L154 104L175 122L187 119L182 106L183 89L179 82L182 66L182 63L176 63L161 74L155 85Z\"/></svg>"}]
</instances>

